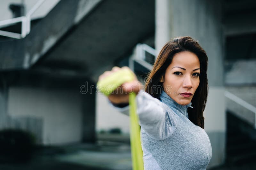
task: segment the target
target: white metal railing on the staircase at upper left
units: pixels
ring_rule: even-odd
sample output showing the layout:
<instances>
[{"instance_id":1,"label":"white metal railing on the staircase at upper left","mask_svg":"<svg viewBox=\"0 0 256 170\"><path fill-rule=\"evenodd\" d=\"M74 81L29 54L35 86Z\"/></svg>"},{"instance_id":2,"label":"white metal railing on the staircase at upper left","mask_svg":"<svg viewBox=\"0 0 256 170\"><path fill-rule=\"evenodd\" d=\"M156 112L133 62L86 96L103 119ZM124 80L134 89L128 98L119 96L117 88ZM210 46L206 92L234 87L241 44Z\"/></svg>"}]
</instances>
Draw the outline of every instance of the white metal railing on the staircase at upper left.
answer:
<instances>
[{"instance_id":1,"label":"white metal railing on the staircase at upper left","mask_svg":"<svg viewBox=\"0 0 256 170\"><path fill-rule=\"evenodd\" d=\"M21 22L21 34L0 30L0 35L15 38L15 39L22 39L22 38L26 37L30 32L31 15L37 10L37 8L39 6L41 6L43 4L44 1L45 0L39 0L27 12L27 14L25 16L0 21L0 27Z\"/></svg>"}]
</instances>

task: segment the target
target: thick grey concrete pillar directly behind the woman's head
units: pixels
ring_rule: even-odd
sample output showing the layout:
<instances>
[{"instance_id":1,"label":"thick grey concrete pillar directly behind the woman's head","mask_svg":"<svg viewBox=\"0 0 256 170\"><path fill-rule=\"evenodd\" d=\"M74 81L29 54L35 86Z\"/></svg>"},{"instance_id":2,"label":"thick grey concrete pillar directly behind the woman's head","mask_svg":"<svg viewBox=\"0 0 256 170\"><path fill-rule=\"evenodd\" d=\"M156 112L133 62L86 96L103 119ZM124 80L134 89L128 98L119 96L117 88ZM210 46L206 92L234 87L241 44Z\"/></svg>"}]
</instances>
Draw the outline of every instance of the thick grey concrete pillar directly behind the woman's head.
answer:
<instances>
[{"instance_id":1,"label":"thick grey concrete pillar directly behind the woman's head","mask_svg":"<svg viewBox=\"0 0 256 170\"><path fill-rule=\"evenodd\" d=\"M177 36L198 40L208 55L209 95L204 111L204 129L212 144L208 168L217 166L224 163L226 143L221 1L156 0L157 50Z\"/></svg>"}]
</instances>

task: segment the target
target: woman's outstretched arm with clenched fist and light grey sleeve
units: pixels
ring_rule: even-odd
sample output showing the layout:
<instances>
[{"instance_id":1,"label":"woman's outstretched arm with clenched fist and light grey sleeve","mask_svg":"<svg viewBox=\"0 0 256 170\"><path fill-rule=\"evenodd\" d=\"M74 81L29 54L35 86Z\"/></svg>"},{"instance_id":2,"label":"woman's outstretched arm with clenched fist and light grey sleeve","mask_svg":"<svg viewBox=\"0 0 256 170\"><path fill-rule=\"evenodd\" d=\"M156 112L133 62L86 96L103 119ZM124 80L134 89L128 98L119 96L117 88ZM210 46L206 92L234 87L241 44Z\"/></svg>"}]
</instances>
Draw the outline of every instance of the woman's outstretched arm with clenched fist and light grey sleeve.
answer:
<instances>
[{"instance_id":1,"label":"woman's outstretched arm with clenched fist and light grey sleeve","mask_svg":"<svg viewBox=\"0 0 256 170\"><path fill-rule=\"evenodd\" d=\"M129 67L113 67L111 71L106 71L100 75L99 81L110 74L113 74L112 78L115 77L118 74L114 74L114 72L119 71L120 69L129 69ZM129 71L132 72L131 70ZM115 90L108 94L108 100L113 106L115 105L114 107L116 109L126 115L129 115L129 93L134 92L136 94L137 113L139 115L140 126L146 131L146 133L148 133L148 135L156 140L162 140L170 137L176 129L176 124L175 121L172 121L169 118L171 116L167 112L167 108L165 107L166 105L146 93L142 89L142 85L140 81L137 80L135 74L134 77L135 78L133 80L115 87ZM116 77L117 81L122 80L122 78L123 77ZM120 104L126 104L128 106L123 108L116 107Z\"/></svg>"}]
</instances>

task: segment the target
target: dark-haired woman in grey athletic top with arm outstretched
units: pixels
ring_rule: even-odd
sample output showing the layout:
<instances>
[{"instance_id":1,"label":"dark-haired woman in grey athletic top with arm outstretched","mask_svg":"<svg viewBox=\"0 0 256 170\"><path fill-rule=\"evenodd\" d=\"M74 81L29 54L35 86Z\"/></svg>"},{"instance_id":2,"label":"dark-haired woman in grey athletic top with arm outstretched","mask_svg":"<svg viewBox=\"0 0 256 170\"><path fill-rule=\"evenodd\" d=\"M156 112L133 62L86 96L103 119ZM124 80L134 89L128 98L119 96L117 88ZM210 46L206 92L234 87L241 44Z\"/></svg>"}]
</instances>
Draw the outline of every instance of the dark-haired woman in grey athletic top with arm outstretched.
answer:
<instances>
[{"instance_id":1,"label":"dark-haired woman in grey athletic top with arm outstretched","mask_svg":"<svg viewBox=\"0 0 256 170\"><path fill-rule=\"evenodd\" d=\"M197 41L178 37L162 48L145 91L134 80L108 96L116 109L129 115L127 92L137 94L145 170L206 169L212 158L203 117L207 64L207 55ZM128 68L113 67L99 79L119 69Z\"/></svg>"}]
</instances>

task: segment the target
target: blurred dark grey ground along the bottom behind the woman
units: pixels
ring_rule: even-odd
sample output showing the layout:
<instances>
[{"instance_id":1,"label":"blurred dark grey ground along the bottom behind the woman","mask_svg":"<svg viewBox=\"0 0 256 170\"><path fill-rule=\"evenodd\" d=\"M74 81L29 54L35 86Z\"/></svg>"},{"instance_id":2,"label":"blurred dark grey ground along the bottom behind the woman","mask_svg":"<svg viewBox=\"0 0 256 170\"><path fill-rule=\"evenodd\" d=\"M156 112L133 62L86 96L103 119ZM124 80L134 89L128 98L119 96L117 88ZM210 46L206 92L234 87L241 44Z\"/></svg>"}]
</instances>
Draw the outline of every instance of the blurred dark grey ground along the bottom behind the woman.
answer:
<instances>
[{"instance_id":1,"label":"blurred dark grey ground along the bottom behind the woman","mask_svg":"<svg viewBox=\"0 0 256 170\"><path fill-rule=\"evenodd\" d=\"M97 141L96 144L72 144L41 147L26 163L0 164L1 170L132 170L130 144ZM256 169L248 165L223 165L210 170Z\"/></svg>"}]
</instances>

